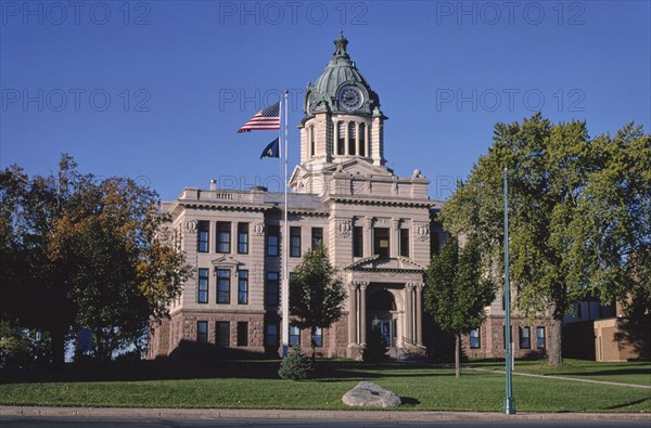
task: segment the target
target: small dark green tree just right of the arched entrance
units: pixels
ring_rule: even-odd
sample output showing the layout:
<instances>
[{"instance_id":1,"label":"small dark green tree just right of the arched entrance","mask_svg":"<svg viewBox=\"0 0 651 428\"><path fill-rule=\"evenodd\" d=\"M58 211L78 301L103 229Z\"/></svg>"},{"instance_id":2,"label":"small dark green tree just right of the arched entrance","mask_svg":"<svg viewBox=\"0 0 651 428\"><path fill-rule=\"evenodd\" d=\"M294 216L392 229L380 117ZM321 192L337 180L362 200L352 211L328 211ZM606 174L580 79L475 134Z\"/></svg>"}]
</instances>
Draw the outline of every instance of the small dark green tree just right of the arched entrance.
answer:
<instances>
[{"instance_id":1,"label":"small dark green tree just right of the arched entrance","mask_svg":"<svg viewBox=\"0 0 651 428\"><path fill-rule=\"evenodd\" d=\"M494 284L485 274L478 241L470 237L463 248L450 236L427 267L425 310L438 326L455 335L455 375L461 376L461 335L478 327L485 307L495 299Z\"/></svg>"}]
</instances>

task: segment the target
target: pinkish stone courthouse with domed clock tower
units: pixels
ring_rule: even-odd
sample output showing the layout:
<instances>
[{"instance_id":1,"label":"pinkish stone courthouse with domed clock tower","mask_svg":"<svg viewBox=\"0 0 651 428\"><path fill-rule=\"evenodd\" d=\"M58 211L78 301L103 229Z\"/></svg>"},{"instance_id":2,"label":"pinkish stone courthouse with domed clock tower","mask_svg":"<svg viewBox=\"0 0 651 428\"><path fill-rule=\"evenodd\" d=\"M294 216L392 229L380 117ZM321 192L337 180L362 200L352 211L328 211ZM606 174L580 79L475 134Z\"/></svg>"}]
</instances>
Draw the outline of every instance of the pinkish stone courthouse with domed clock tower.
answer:
<instances>
[{"instance_id":1,"label":"pinkish stone courthouse with domed clock tower","mask_svg":"<svg viewBox=\"0 0 651 428\"><path fill-rule=\"evenodd\" d=\"M359 355L374 326L392 355L424 354L425 345L436 347L423 334L431 330L423 287L431 254L443 239L433 222L441 203L429 198L430 182L419 169L397 177L386 167L387 118L380 98L350 60L348 41L340 36L334 43L326 69L307 88L298 127L301 164L288 203L289 271L310 247L324 245L347 290L342 317L317 330L320 355ZM183 342L278 354L283 205L281 193L219 190L214 182L206 190L187 187L164 205L175 245L196 275L171 304L169 319L152 326L149 358L175 355ZM496 313L488 325L501 322L494 328L501 336L503 313ZM503 340L485 327L481 332L480 341L468 338L473 349L502 349ZM309 332L290 326L290 345L296 343L309 348Z\"/></svg>"}]
</instances>

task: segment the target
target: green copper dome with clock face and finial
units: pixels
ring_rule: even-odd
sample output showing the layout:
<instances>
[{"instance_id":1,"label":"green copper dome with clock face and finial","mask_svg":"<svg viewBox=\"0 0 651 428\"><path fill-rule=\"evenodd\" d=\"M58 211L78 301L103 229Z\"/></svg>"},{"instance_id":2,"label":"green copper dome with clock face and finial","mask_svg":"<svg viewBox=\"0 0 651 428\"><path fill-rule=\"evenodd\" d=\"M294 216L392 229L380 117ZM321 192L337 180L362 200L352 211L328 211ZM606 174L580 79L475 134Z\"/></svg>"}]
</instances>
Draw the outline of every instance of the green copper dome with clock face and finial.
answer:
<instances>
[{"instance_id":1,"label":"green copper dome with clock face and finial","mask_svg":"<svg viewBox=\"0 0 651 428\"><path fill-rule=\"evenodd\" d=\"M343 34L334 40L336 50L314 85L308 85L305 113L318 112L370 115L380 107L380 98L359 73L346 51L348 40ZM346 93L345 93L346 92Z\"/></svg>"}]
</instances>

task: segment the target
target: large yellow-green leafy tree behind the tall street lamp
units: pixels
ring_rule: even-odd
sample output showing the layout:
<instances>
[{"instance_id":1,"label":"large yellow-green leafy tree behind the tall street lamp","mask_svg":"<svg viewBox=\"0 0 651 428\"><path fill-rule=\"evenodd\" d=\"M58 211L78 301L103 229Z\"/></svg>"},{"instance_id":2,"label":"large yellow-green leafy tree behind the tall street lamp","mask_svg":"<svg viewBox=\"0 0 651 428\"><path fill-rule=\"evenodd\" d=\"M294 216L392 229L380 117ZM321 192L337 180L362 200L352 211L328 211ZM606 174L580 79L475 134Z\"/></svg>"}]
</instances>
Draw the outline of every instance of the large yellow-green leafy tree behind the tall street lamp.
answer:
<instances>
[{"instance_id":1,"label":"large yellow-green leafy tree behind the tall street lamp","mask_svg":"<svg viewBox=\"0 0 651 428\"><path fill-rule=\"evenodd\" d=\"M497 124L493 146L443 208L447 230L480 238L485 269L503 270L507 168L514 304L551 315L550 364L562 363L562 320L574 302L626 301L649 282L650 141L631 125L590 139L585 122L552 125L540 114ZM532 152L542 156L527 158Z\"/></svg>"}]
</instances>

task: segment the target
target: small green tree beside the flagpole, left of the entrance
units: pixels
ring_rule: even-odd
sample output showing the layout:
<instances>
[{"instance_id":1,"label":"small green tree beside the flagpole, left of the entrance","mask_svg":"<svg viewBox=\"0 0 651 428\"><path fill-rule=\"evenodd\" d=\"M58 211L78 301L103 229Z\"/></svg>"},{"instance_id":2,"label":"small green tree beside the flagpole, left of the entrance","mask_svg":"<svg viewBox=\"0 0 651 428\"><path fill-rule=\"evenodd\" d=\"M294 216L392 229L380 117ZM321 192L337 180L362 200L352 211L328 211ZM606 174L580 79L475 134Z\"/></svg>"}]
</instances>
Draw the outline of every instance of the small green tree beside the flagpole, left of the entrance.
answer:
<instances>
[{"instance_id":1,"label":"small green tree beside the flagpole, left of the entrance","mask_svg":"<svg viewBox=\"0 0 651 428\"><path fill-rule=\"evenodd\" d=\"M345 299L346 291L328 260L326 248L311 248L290 281L290 313L297 327L310 329L312 360L316 329L328 328L342 316Z\"/></svg>"}]
</instances>

